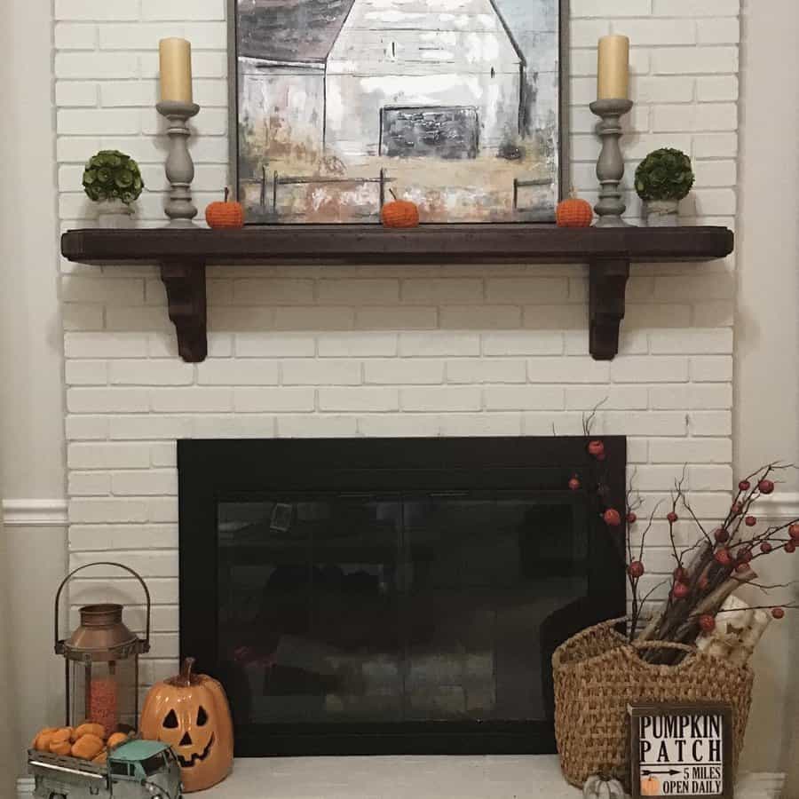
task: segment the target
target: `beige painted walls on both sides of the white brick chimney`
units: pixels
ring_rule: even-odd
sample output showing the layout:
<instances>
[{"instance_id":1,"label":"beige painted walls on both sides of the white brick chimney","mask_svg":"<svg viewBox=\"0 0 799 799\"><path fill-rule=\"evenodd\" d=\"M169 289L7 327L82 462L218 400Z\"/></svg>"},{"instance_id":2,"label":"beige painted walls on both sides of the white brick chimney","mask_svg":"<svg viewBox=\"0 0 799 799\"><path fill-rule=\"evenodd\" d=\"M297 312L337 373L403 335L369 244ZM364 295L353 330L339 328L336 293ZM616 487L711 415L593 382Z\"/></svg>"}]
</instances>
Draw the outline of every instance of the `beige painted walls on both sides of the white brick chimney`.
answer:
<instances>
[{"instance_id":1,"label":"beige painted walls on both sides of the white brick chimney","mask_svg":"<svg viewBox=\"0 0 799 799\"><path fill-rule=\"evenodd\" d=\"M64 493L57 239L52 159L51 8L9 0L0 27L0 496ZM736 462L740 469L773 457L799 459L799 4L748 0L744 15L739 223L740 299L736 343ZM799 492L799 475L787 489ZM13 659L0 652L0 691L19 677L19 745L51 717L57 700L49 597L63 573L60 528L6 530L0 624L22 631ZM791 564L791 565L789 565ZM799 560L784 561L786 578ZM2 578L2 575L0 575ZM36 604L25 604L35 597ZM44 598L43 598L44 597ZM45 601L46 599L46 601ZM29 611L23 617L23 605ZM30 619L47 620L36 625ZM8 630L6 630L7 632ZM0 629L0 640L4 630ZM799 692L788 690L799 662L799 615L772 628L758 655L755 710L744 763L757 769L799 762L791 732ZM795 684L795 683L794 683ZM9 708L11 697L0 693ZM788 710L789 712L786 712ZM793 711L793 712L790 712ZM9 711L6 710L6 716ZM3 731L5 732L5 731ZM0 732L0 735L3 734ZM0 738L0 770L4 740ZM0 797L4 797L0 793Z\"/></svg>"}]
</instances>

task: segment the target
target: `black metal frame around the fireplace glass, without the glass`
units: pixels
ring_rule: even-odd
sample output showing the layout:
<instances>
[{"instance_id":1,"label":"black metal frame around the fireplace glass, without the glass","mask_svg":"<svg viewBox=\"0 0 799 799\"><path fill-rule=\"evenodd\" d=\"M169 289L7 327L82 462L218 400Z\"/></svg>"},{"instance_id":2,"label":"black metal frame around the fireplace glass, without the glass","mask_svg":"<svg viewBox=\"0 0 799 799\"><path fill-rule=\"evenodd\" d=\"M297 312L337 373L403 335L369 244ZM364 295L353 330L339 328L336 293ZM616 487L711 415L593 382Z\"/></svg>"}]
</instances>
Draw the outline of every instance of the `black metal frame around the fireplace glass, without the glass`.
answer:
<instances>
[{"instance_id":1,"label":"black metal frame around the fireplace glass, without the glass","mask_svg":"<svg viewBox=\"0 0 799 799\"><path fill-rule=\"evenodd\" d=\"M275 493L566 493L577 474L589 518L589 589L577 615L553 614L550 636L562 641L591 623L623 616L627 439L602 440L603 461L588 454L589 439L581 436L179 440L181 658L196 658L199 671L224 684L218 651L218 504L257 502ZM621 526L605 526L603 507L620 510ZM551 694L551 685L545 690ZM238 724L235 751L245 757L551 754L553 708L547 710L548 718L537 721Z\"/></svg>"}]
</instances>

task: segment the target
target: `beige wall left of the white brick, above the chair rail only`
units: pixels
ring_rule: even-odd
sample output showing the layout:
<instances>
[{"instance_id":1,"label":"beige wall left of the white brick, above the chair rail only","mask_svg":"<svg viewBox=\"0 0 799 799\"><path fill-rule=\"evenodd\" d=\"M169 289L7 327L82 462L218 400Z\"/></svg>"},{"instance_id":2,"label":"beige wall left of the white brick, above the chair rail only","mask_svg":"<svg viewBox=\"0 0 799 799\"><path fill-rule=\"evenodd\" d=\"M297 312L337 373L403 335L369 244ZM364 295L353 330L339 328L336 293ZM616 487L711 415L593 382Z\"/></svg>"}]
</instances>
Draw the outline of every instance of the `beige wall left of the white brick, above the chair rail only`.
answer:
<instances>
[{"instance_id":1,"label":"beige wall left of the white brick, above the chair rail only","mask_svg":"<svg viewBox=\"0 0 799 799\"><path fill-rule=\"evenodd\" d=\"M64 495L50 3L0 26L0 476L4 498Z\"/></svg>"}]
</instances>

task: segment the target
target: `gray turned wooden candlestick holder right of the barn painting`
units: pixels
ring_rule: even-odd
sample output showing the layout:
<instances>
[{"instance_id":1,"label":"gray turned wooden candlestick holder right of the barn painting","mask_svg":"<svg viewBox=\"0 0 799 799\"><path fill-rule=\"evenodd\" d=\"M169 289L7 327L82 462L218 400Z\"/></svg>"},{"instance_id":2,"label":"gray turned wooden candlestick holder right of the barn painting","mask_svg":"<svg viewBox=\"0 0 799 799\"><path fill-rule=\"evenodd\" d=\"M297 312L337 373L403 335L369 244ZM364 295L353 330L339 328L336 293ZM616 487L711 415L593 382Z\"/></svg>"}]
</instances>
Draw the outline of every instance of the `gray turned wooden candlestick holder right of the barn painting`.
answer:
<instances>
[{"instance_id":1,"label":"gray turned wooden candlestick holder right of the barn painting","mask_svg":"<svg viewBox=\"0 0 799 799\"><path fill-rule=\"evenodd\" d=\"M597 227L627 227L621 214L627 206L621 200L619 184L624 177L624 159L621 157L621 116L632 108L629 99L601 99L591 103L590 109L602 122L597 125L597 133L602 137L602 152L597 161L597 178L599 178L599 202L594 206L597 211Z\"/></svg>"}]
</instances>

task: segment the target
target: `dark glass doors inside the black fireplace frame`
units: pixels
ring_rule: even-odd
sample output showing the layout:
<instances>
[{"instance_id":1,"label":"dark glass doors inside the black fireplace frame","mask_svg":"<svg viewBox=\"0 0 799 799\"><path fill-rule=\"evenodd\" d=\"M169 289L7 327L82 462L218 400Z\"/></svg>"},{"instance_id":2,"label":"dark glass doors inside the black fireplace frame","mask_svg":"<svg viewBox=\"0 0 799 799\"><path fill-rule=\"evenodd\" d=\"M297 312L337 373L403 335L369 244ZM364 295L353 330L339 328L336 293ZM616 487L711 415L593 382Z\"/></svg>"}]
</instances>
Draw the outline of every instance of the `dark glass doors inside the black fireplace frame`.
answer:
<instances>
[{"instance_id":1,"label":"dark glass doors inside the black fireplace frame","mask_svg":"<svg viewBox=\"0 0 799 799\"><path fill-rule=\"evenodd\" d=\"M542 627L588 592L585 508L569 499L220 503L220 654L237 720L545 719Z\"/></svg>"}]
</instances>

